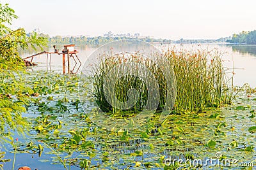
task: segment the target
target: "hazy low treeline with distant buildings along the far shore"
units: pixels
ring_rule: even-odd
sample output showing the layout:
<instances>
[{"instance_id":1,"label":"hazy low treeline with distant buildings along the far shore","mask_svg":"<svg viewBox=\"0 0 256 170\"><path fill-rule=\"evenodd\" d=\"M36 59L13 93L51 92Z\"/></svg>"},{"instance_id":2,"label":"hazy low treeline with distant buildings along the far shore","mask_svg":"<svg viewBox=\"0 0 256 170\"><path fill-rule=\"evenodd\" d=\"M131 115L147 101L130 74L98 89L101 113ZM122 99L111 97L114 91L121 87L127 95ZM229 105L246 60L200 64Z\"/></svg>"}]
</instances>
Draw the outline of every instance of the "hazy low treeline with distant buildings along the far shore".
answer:
<instances>
[{"instance_id":1,"label":"hazy low treeline with distant buildings along the far shore","mask_svg":"<svg viewBox=\"0 0 256 170\"><path fill-rule=\"evenodd\" d=\"M116 41L120 39L129 39L129 37L110 37L110 36L95 36L95 37L86 37L86 36L52 36L50 37L48 34L39 34L40 36L44 36L48 38L49 45L64 45L64 44L75 44L75 45L104 45L105 43L109 43L111 41ZM145 41L147 43L223 43L227 40L227 38L220 39L179 39L177 41L173 41L171 39L161 39L161 38L136 38L140 41Z\"/></svg>"}]
</instances>

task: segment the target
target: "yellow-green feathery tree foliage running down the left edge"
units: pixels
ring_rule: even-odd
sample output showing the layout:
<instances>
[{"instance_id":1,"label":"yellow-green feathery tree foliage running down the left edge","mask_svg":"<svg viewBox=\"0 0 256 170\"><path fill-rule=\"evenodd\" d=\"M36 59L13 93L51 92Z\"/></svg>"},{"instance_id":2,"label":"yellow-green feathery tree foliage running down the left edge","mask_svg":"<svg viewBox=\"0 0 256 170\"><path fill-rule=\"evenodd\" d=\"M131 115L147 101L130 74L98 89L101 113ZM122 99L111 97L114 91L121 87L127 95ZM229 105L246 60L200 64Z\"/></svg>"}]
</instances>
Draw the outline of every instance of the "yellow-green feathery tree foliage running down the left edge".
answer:
<instances>
[{"instance_id":1,"label":"yellow-green feathery tree foliage running down the left edge","mask_svg":"<svg viewBox=\"0 0 256 170\"><path fill-rule=\"evenodd\" d=\"M21 113L26 111L26 93L32 92L22 83L24 61L19 56L18 47L35 49L47 45L47 38L35 32L26 34L22 28L13 31L6 26L16 18L8 4L0 3L0 143L12 139L12 131L23 133L28 127Z\"/></svg>"}]
</instances>

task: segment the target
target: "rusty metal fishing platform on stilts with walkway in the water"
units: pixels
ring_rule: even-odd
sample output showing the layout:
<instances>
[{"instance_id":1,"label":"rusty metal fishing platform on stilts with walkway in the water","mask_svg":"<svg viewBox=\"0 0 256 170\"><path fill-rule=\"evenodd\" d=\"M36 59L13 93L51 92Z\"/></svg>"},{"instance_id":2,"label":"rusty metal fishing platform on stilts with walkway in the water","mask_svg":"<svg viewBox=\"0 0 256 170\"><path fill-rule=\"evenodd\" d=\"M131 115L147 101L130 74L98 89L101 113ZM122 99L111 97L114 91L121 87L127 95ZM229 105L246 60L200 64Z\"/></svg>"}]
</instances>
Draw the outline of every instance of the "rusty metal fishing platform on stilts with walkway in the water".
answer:
<instances>
[{"instance_id":1,"label":"rusty metal fishing platform on stilts with walkway in the water","mask_svg":"<svg viewBox=\"0 0 256 170\"><path fill-rule=\"evenodd\" d=\"M47 58L46 58L46 64L47 64L47 69L48 69L48 60L49 60L49 66L50 66L50 70L51 70L51 55L52 54L58 54L61 55L62 54L62 70L63 70L63 74L66 74L66 62L67 62L67 73L68 74L76 74L79 71L79 68L81 67L82 63L79 60L79 57L77 56L77 50L74 49L75 45L64 45L64 49L62 50L62 52L59 52L59 50L56 49L56 45L53 46L54 48L54 52L40 52L40 53L36 53L34 55L30 55L28 57L25 57L22 60L28 60L31 59L30 62L33 62L34 57L38 56L38 55L42 55L44 53L47 54ZM67 55L67 60L66 60L66 55ZM70 59L73 59L75 62L75 65L72 69L70 69ZM76 66L78 64L78 67L76 69ZM76 70L75 70L76 69Z\"/></svg>"}]
</instances>

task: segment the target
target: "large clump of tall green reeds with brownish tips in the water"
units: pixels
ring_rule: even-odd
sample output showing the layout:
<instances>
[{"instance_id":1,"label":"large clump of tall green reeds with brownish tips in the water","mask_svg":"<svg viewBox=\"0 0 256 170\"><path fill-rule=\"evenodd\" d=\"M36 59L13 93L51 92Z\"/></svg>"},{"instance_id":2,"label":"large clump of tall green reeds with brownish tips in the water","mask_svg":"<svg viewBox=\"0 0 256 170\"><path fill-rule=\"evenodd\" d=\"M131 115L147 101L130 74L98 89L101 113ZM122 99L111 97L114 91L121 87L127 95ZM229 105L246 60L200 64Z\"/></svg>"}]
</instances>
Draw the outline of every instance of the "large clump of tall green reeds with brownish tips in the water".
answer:
<instances>
[{"instance_id":1,"label":"large clump of tall green reeds with brownish tips in the water","mask_svg":"<svg viewBox=\"0 0 256 170\"><path fill-rule=\"evenodd\" d=\"M144 64L154 74L157 85L154 84L155 81L153 80L147 80L147 83L150 83L152 85L151 87L159 90L157 110L163 110L167 99L167 92L168 90L173 90L168 89L167 85L170 83L168 81L172 79L164 77L163 74L163 69L170 68L174 70L177 83L175 111L202 111L206 107L216 107L221 106L223 103L228 103L230 97L226 91L227 81L225 80L221 53L218 50L177 51L175 48L170 48L164 52L163 57L155 58L158 64L154 60L146 59L139 53L134 53L129 57L124 54L113 55L112 57L105 55L102 57L101 64L94 71L93 83L95 101L100 109L115 113L116 108L109 104L109 100L115 101L114 98L116 97L121 102L127 101L129 99L127 92L132 88L138 92L138 101L131 108L125 109L128 111L143 110L147 104L148 96L151 95L151 97L154 97L156 95L148 93L147 85L143 80L143 78L149 77L147 75L148 72L143 69L136 69L134 64L130 64L129 67L120 67L115 70L115 74L121 75L134 69L140 72L140 76L125 75L120 77L116 82L112 82L111 78L107 78L107 75L110 71L113 71L114 67L118 66L118 64L125 63ZM168 63L166 63L166 59L168 59ZM163 67L164 64L168 64L169 67ZM112 76L116 75L112 74ZM110 99L108 100L106 99L106 92L104 93L104 83L106 81L109 84L115 83L115 97L113 96L111 98L110 95Z\"/></svg>"}]
</instances>

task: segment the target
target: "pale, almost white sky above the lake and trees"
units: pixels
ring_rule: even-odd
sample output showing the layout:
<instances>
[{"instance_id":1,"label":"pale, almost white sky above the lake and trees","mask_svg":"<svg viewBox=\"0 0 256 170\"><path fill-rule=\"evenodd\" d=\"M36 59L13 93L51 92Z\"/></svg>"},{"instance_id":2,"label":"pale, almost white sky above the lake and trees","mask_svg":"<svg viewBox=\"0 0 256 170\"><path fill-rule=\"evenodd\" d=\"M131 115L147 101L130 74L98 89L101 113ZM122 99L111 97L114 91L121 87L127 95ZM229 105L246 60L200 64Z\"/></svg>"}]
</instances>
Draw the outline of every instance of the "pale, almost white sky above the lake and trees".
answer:
<instances>
[{"instance_id":1,"label":"pale, almost white sky above the lake and trees","mask_svg":"<svg viewBox=\"0 0 256 170\"><path fill-rule=\"evenodd\" d=\"M19 16L12 29L50 36L141 36L218 39L256 29L255 0L1 0Z\"/></svg>"}]
</instances>

